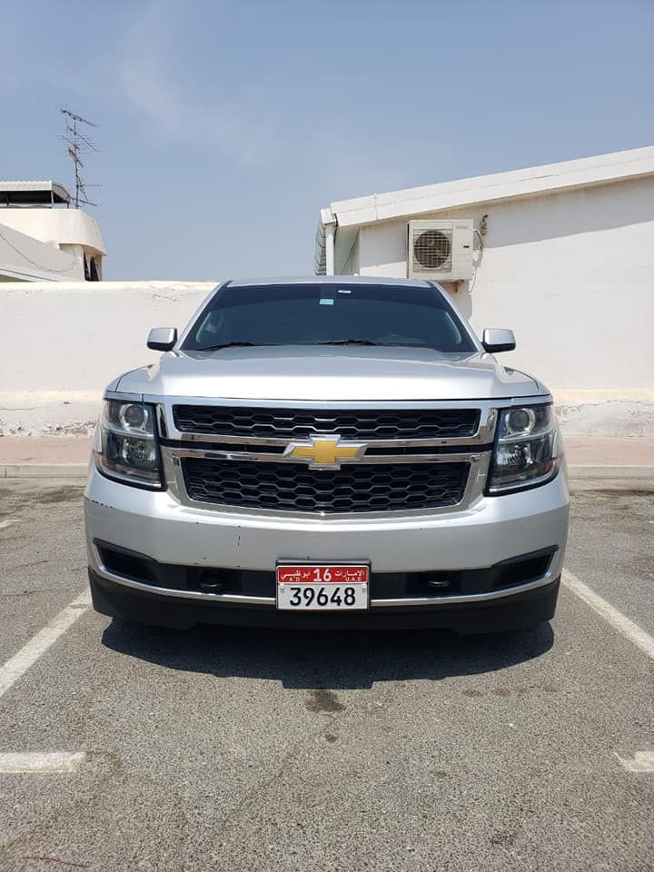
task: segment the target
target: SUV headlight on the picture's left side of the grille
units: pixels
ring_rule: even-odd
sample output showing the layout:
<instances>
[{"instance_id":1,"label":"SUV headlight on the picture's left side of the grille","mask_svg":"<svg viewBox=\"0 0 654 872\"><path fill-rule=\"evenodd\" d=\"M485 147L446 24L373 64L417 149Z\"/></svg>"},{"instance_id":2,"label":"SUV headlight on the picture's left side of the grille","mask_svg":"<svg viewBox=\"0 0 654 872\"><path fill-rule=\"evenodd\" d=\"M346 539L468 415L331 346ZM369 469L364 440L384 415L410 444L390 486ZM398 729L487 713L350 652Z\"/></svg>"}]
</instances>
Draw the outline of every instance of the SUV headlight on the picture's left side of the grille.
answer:
<instances>
[{"instance_id":1,"label":"SUV headlight on the picture's left side of the grille","mask_svg":"<svg viewBox=\"0 0 654 872\"><path fill-rule=\"evenodd\" d=\"M105 400L100 437L102 451L96 452L100 471L120 481L161 487L154 406Z\"/></svg>"}]
</instances>

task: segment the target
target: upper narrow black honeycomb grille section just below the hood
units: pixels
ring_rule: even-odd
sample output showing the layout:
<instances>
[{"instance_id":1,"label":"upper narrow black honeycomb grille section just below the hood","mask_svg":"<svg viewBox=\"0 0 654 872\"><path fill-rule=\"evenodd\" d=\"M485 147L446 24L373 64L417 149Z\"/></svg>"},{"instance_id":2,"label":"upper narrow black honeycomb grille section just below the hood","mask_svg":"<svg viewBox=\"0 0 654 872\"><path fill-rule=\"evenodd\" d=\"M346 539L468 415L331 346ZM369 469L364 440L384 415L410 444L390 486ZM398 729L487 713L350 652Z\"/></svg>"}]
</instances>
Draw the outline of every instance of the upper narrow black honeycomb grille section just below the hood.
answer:
<instances>
[{"instance_id":1,"label":"upper narrow black honeycomb grille section just below the hood","mask_svg":"<svg viewBox=\"0 0 654 872\"><path fill-rule=\"evenodd\" d=\"M474 436L479 409L253 409L238 406L174 406L175 427L184 433L244 439L451 439Z\"/></svg>"}]
</instances>

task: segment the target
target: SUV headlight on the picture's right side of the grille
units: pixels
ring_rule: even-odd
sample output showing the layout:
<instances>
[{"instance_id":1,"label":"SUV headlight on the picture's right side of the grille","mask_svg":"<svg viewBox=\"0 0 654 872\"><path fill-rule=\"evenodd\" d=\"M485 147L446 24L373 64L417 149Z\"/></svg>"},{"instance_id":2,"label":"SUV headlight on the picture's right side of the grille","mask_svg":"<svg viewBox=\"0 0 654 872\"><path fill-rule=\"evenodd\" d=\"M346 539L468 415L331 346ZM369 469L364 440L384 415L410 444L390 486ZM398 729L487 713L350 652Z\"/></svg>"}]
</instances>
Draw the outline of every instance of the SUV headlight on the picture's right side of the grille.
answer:
<instances>
[{"instance_id":1,"label":"SUV headlight on the picture's right side of the grille","mask_svg":"<svg viewBox=\"0 0 654 872\"><path fill-rule=\"evenodd\" d=\"M550 405L500 411L488 492L544 484L560 465L560 436Z\"/></svg>"}]
</instances>

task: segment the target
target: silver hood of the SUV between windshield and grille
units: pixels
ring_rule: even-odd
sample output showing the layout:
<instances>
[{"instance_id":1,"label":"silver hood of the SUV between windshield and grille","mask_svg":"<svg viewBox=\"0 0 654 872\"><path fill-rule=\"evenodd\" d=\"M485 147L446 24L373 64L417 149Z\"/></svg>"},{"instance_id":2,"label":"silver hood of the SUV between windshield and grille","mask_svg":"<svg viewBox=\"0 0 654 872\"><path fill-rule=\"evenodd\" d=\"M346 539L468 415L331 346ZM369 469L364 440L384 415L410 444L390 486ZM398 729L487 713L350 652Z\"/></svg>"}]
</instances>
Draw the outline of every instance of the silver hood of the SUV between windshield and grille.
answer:
<instances>
[{"instance_id":1,"label":"silver hood of the SUV between windshield and grille","mask_svg":"<svg viewBox=\"0 0 654 872\"><path fill-rule=\"evenodd\" d=\"M545 389L491 354L279 346L167 352L114 390L152 397L298 401L490 400Z\"/></svg>"}]
</instances>

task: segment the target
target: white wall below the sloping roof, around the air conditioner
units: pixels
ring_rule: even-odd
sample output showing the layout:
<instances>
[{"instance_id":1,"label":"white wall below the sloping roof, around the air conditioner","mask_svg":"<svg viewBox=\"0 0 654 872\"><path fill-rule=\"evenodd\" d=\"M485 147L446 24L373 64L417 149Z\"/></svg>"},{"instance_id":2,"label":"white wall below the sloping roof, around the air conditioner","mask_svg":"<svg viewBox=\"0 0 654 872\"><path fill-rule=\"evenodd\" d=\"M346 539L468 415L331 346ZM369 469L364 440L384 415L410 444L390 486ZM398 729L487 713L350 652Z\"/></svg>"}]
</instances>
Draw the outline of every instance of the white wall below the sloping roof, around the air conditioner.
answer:
<instances>
[{"instance_id":1,"label":"white wall below the sloping roof, around the air conditioner","mask_svg":"<svg viewBox=\"0 0 654 872\"><path fill-rule=\"evenodd\" d=\"M448 286L453 302L480 335L513 328L502 362L548 384L570 432L654 432L654 179L421 218L484 214L476 276ZM402 219L362 227L349 265L406 277L406 259Z\"/></svg>"}]
</instances>

